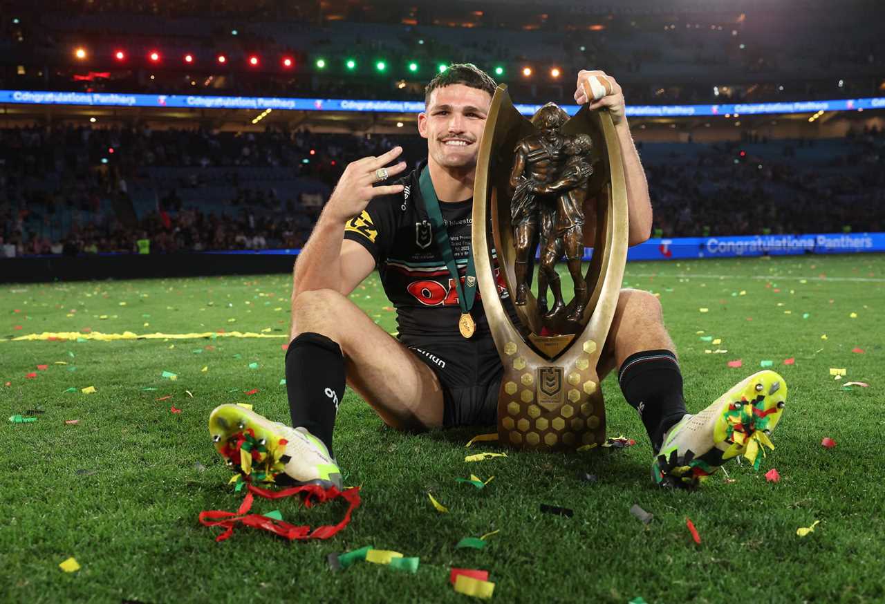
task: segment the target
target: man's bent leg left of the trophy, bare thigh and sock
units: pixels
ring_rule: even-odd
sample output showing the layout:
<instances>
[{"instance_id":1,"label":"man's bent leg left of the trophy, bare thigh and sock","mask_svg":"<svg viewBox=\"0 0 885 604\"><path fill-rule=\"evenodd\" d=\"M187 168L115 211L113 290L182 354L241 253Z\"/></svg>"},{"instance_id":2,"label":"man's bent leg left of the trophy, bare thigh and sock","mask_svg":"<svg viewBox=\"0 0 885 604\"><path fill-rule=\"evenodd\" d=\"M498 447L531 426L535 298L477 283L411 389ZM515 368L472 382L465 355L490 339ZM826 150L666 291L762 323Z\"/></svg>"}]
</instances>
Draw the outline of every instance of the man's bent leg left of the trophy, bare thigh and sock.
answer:
<instances>
[{"instance_id":1,"label":"man's bent leg left of the trophy, bare thigh and sock","mask_svg":"<svg viewBox=\"0 0 885 604\"><path fill-rule=\"evenodd\" d=\"M292 302L290 336L286 384L296 425L319 421L331 435L334 424L334 414L327 413L327 384L319 378L328 369L319 359L329 357L317 341L326 350L340 347L331 363L340 363L350 387L386 424L399 430L443 424L443 391L435 373L342 294L330 289L299 294ZM304 350L297 354L297 348ZM343 392L336 394L340 400Z\"/></svg>"}]
</instances>

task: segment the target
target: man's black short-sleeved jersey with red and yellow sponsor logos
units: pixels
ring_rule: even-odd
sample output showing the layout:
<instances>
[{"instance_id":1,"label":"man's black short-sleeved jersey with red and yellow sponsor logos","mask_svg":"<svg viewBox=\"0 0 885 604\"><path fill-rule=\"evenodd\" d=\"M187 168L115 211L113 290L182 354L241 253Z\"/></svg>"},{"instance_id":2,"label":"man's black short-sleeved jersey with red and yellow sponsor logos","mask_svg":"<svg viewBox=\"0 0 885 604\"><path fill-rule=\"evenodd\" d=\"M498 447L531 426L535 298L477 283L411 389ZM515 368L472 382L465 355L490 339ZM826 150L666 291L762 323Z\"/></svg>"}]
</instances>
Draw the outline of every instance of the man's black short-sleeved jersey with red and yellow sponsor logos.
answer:
<instances>
[{"instance_id":1,"label":"man's black short-sleeved jersey with red and yellow sponsor logos","mask_svg":"<svg viewBox=\"0 0 885 604\"><path fill-rule=\"evenodd\" d=\"M393 183L404 185L403 193L373 198L344 228L344 239L358 241L374 257L384 292L396 308L399 339L407 346L424 346L435 340L465 341L458 331L458 289L436 248L421 198L419 174L426 166L427 162L422 162L417 170ZM471 248L473 199L440 203L440 210L463 286ZM519 325L494 250L492 263L504 308L514 325ZM490 339L479 288L471 315L476 322L472 340Z\"/></svg>"}]
</instances>

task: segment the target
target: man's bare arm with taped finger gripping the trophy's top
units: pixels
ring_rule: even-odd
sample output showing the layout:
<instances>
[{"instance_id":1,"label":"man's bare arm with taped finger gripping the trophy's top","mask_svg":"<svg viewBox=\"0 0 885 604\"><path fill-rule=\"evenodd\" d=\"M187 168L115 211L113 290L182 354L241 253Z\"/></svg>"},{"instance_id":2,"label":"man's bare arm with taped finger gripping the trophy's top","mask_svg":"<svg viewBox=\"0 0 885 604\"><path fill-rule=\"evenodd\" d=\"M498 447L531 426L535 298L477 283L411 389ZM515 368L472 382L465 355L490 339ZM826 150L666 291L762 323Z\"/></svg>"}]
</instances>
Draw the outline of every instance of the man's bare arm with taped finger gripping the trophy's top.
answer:
<instances>
[{"instance_id":1,"label":"man's bare arm with taped finger gripping the trophy's top","mask_svg":"<svg viewBox=\"0 0 885 604\"><path fill-rule=\"evenodd\" d=\"M602 98L593 100L590 95L589 80L592 77L600 77L608 80L611 84L612 93ZM639 161L639 154L633 144L633 136L630 127L627 126L627 116L624 112L624 93L620 84L599 71L581 70L578 73L578 88L574 93L574 100L579 104L590 103L589 109L596 110L605 107L612 116L615 132L620 142L620 157L624 164L624 179L627 185L627 213L629 219L629 239L627 245L634 246L648 241L651 236L651 201L649 198L649 184L645 179L643 164Z\"/></svg>"}]
</instances>

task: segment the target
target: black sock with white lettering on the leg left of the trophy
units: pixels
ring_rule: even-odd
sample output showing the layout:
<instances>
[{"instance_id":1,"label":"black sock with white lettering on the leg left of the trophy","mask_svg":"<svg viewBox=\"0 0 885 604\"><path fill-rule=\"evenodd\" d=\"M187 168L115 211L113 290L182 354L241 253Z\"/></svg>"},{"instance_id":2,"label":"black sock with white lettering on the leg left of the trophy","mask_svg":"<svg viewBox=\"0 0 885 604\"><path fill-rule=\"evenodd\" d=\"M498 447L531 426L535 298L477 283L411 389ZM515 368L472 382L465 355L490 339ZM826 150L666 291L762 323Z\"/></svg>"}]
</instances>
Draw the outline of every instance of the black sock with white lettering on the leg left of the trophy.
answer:
<instances>
[{"instance_id":1,"label":"black sock with white lettering on the leg left of the trophy","mask_svg":"<svg viewBox=\"0 0 885 604\"><path fill-rule=\"evenodd\" d=\"M344 396L341 347L319 333L302 333L286 351L286 391L292 426L307 428L332 454L332 431Z\"/></svg>"}]
</instances>

